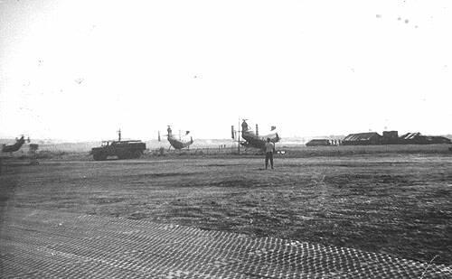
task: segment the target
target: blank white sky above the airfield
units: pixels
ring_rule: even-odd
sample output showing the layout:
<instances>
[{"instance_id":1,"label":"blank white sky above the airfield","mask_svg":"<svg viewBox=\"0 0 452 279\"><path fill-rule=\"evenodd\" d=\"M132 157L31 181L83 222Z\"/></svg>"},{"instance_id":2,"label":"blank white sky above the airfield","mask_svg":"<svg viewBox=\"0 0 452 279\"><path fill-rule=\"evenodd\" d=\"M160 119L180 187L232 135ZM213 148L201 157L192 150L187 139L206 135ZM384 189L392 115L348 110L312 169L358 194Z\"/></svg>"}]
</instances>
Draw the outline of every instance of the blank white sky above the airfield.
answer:
<instances>
[{"instance_id":1,"label":"blank white sky above the airfield","mask_svg":"<svg viewBox=\"0 0 452 279\"><path fill-rule=\"evenodd\" d=\"M452 134L451 1L0 0L0 137Z\"/></svg>"}]
</instances>

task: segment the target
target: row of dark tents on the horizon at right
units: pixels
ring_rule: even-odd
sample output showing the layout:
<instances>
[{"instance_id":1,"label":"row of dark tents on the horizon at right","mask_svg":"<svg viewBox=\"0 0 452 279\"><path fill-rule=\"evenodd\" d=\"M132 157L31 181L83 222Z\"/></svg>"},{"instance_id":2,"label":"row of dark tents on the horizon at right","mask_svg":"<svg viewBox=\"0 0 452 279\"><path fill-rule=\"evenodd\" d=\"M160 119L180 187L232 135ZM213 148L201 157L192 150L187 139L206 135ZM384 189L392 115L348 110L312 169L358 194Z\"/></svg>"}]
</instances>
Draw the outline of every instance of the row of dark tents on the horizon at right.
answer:
<instances>
[{"instance_id":1,"label":"row of dark tents on the horizon at right","mask_svg":"<svg viewBox=\"0 0 452 279\"><path fill-rule=\"evenodd\" d=\"M341 145L377 145L377 144L452 144L452 141L445 136L421 135L417 133L407 133L400 135L397 131L384 131L383 135L376 132L350 134L339 142ZM315 139L306 146L335 145L327 139Z\"/></svg>"}]
</instances>

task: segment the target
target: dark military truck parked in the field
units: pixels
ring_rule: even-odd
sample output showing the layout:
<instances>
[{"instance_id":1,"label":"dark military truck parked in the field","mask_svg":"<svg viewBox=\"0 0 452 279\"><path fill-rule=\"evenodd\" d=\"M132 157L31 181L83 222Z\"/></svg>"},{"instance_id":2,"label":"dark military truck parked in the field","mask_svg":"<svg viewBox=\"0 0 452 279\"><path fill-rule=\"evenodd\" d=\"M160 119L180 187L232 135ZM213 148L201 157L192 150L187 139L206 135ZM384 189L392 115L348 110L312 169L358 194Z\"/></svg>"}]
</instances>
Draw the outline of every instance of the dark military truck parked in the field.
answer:
<instances>
[{"instance_id":1,"label":"dark military truck parked in the field","mask_svg":"<svg viewBox=\"0 0 452 279\"><path fill-rule=\"evenodd\" d=\"M146 144L139 140L121 140L121 130L118 131L118 141L103 141L100 147L91 149L94 160L104 161L110 156L118 159L137 159L146 150Z\"/></svg>"}]
</instances>

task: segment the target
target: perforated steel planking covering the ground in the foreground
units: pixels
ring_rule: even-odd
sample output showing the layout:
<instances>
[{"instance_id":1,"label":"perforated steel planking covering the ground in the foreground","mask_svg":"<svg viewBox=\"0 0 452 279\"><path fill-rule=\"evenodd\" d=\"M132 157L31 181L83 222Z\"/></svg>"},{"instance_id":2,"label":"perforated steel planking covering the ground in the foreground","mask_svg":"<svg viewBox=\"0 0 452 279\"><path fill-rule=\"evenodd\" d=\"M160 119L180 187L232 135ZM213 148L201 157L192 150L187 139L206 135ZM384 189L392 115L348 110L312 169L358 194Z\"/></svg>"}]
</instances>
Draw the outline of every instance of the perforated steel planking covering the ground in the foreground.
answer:
<instances>
[{"instance_id":1,"label":"perforated steel planking covering the ground in the foreground","mask_svg":"<svg viewBox=\"0 0 452 279\"><path fill-rule=\"evenodd\" d=\"M352 248L146 220L8 209L2 278L452 278L452 267Z\"/></svg>"}]
</instances>

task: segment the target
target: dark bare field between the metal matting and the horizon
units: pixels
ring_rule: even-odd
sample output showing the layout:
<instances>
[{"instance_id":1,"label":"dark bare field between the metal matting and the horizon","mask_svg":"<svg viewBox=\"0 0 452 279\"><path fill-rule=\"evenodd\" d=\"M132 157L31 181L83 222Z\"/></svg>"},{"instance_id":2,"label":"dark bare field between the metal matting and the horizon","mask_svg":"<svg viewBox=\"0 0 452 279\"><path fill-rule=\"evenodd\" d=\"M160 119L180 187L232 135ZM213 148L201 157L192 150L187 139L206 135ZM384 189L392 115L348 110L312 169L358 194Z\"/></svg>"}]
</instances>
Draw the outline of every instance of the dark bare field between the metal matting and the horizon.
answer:
<instances>
[{"instance_id":1,"label":"dark bare field between the metal matting and the horizon","mask_svg":"<svg viewBox=\"0 0 452 279\"><path fill-rule=\"evenodd\" d=\"M452 265L452 156L372 154L8 163L11 207L149 219Z\"/></svg>"}]
</instances>

